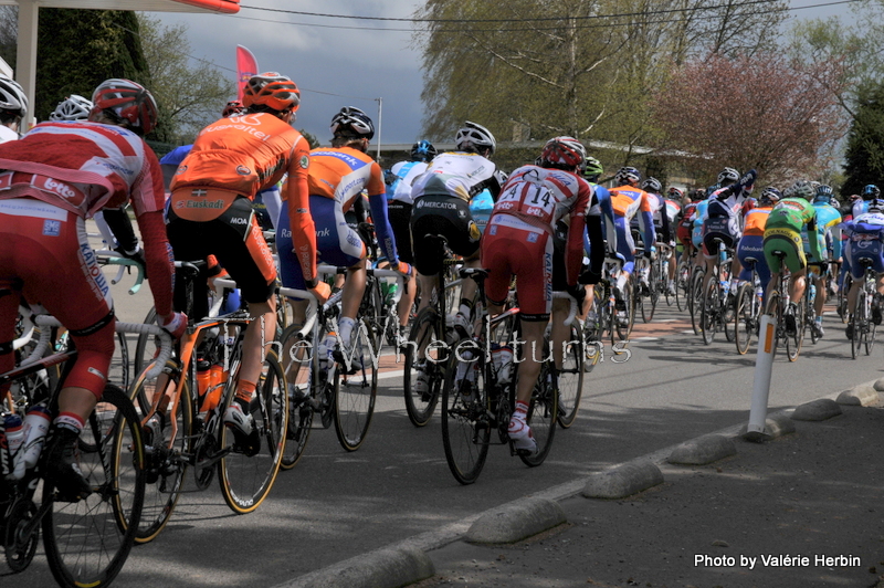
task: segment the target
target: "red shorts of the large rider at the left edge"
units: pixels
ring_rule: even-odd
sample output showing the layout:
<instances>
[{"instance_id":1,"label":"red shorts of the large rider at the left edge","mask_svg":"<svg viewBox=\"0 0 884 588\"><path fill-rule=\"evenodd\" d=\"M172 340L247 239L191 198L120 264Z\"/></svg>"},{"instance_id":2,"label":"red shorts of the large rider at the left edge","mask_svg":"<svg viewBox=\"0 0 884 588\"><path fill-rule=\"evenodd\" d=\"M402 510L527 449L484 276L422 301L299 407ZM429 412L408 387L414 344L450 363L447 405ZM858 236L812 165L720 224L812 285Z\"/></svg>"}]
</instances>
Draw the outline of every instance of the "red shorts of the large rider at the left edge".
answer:
<instances>
[{"instance_id":1,"label":"red shorts of the large rider at the left edge","mask_svg":"<svg viewBox=\"0 0 884 588\"><path fill-rule=\"evenodd\" d=\"M110 284L88 244L83 218L36 199L0 200L0 344L15 338L21 296L70 332L77 358L65 386L101 398L116 337ZM10 350L11 351L11 350ZM0 371L14 366L0 354Z\"/></svg>"}]
</instances>

